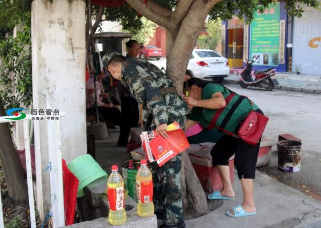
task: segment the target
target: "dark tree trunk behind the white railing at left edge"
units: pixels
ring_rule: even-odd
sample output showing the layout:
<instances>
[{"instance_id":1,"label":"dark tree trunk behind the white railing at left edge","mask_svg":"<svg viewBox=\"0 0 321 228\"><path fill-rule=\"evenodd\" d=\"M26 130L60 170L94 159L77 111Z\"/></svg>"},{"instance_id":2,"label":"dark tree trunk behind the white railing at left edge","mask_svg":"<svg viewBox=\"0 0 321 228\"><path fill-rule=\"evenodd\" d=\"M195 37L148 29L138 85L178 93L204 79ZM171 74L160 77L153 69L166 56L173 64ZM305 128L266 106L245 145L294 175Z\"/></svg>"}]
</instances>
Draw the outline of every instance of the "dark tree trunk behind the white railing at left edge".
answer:
<instances>
[{"instance_id":1,"label":"dark tree trunk behind the white railing at left edge","mask_svg":"<svg viewBox=\"0 0 321 228\"><path fill-rule=\"evenodd\" d=\"M6 115L0 97L0 116ZM0 124L0 162L9 196L17 202L28 201L28 190L7 123Z\"/></svg>"}]
</instances>

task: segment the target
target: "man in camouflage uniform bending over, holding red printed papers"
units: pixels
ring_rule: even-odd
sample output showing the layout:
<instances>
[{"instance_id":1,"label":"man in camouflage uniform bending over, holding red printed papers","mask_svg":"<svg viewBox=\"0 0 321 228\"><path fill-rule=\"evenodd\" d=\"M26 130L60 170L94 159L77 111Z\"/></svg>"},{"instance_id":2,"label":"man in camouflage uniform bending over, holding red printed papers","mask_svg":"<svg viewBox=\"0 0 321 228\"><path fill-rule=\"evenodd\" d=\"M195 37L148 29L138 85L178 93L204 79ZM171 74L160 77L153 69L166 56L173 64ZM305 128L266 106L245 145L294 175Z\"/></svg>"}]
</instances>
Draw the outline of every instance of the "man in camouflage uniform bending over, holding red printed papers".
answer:
<instances>
[{"instance_id":1,"label":"man in camouflage uniform bending over, holding red printed papers","mask_svg":"<svg viewBox=\"0 0 321 228\"><path fill-rule=\"evenodd\" d=\"M153 115L156 131L167 137L168 123L177 121L183 128L187 106L177 94L174 83L156 66L141 58L128 58L110 52L106 59L108 71L115 79L132 93L133 97L143 104ZM164 224L162 227L184 228L181 199L181 155L178 154L162 167L156 162L150 163L153 175L153 202L155 214Z\"/></svg>"}]
</instances>

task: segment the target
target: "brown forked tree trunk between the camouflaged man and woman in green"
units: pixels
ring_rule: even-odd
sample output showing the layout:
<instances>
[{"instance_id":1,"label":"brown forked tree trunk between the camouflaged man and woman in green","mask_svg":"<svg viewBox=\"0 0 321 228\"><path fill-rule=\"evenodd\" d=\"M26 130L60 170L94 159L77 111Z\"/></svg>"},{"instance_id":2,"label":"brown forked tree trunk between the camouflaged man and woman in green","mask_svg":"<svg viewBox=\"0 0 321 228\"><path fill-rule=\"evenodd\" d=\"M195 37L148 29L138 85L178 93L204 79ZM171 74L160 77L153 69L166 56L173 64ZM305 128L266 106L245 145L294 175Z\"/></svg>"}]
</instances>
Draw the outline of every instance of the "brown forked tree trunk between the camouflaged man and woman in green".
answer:
<instances>
[{"instance_id":1,"label":"brown forked tree trunk between the camouflaged man and woman in green","mask_svg":"<svg viewBox=\"0 0 321 228\"><path fill-rule=\"evenodd\" d=\"M211 8L219 0L179 0L170 14L148 7L141 0L126 0L144 17L167 29L166 75L171 77L182 94L183 78L191 53ZM148 1L149 2L149 1ZM205 192L195 173L189 156L182 153L182 200L184 212L205 214L209 211Z\"/></svg>"}]
</instances>

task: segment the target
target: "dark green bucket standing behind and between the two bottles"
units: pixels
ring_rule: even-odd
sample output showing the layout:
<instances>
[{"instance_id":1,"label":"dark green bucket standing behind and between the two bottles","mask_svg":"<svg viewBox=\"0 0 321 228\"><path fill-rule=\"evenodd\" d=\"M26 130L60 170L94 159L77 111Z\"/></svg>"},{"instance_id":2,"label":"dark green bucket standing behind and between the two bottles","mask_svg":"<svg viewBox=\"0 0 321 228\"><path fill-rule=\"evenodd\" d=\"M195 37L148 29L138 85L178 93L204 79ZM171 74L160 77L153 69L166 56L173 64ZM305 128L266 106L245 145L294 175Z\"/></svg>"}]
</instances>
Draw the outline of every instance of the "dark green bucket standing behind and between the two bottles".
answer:
<instances>
[{"instance_id":1,"label":"dark green bucket standing behind and between the two bottles","mask_svg":"<svg viewBox=\"0 0 321 228\"><path fill-rule=\"evenodd\" d=\"M136 192L136 174L137 167L141 165L140 161L134 161L133 166L134 169L128 169L129 161L125 161L121 169L123 170L123 179L125 184L125 189L128 190L128 195L134 199L135 202L138 202L137 192Z\"/></svg>"}]
</instances>

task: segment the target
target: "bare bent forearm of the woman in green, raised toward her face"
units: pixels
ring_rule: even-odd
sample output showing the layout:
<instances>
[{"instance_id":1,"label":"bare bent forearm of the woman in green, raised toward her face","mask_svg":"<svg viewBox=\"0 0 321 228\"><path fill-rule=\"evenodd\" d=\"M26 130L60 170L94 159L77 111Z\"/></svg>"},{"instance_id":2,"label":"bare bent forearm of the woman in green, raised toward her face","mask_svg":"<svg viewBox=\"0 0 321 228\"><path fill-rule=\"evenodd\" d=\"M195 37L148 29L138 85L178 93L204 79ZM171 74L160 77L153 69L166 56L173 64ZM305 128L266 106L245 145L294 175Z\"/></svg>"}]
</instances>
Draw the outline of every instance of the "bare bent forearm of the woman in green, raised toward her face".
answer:
<instances>
[{"instance_id":1,"label":"bare bent forearm of the woman in green, raised toward her face","mask_svg":"<svg viewBox=\"0 0 321 228\"><path fill-rule=\"evenodd\" d=\"M216 92L212 95L212 98L206 100L196 100L192 97L184 97L187 105L192 107L200 107L206 109L221 109L226 106L225 99L221 92Z\"/></svg>"}]
</instances>

